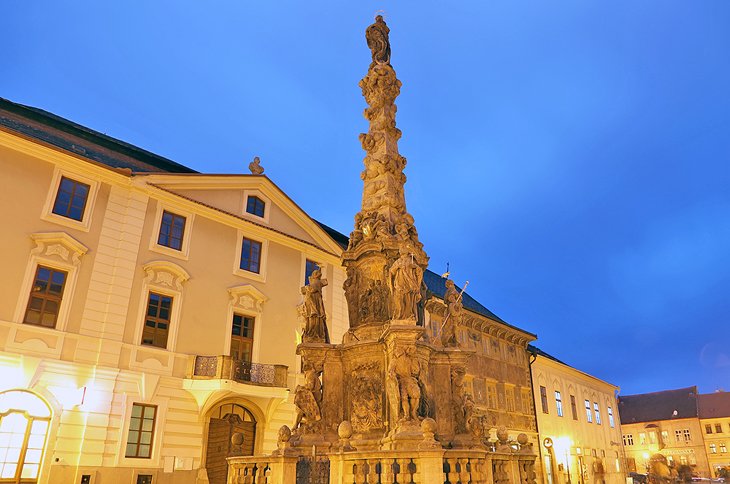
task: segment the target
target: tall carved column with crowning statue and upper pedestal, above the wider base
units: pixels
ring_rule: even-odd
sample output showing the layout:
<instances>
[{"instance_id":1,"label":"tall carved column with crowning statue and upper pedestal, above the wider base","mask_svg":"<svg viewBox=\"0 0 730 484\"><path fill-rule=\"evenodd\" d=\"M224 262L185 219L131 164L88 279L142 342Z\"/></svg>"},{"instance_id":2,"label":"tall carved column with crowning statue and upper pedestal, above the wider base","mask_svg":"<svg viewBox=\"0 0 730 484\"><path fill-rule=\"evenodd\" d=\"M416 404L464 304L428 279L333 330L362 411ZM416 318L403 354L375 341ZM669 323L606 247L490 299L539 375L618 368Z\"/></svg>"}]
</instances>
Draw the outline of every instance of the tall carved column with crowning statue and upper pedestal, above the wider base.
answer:
<instances>
[{"instance_id":1,"label":"tall carved column with crowning statue and upper pedestal, above the wider base","mask_svg":"<svg viewBox=\"0 0 730 484\"><path fill-rule=\"evenodd\" d=\"M406 210L406 159L398 153L401 131L395 126L401 82L390 65L389 32L380 15L365 31L372 63L360 88L368 103L364 114L370 127L360 135L366 151L362 206L343 254L348 336L358 341L377 338L388 322L416 325L428 265Z\"/></svg>"}]
</instances>

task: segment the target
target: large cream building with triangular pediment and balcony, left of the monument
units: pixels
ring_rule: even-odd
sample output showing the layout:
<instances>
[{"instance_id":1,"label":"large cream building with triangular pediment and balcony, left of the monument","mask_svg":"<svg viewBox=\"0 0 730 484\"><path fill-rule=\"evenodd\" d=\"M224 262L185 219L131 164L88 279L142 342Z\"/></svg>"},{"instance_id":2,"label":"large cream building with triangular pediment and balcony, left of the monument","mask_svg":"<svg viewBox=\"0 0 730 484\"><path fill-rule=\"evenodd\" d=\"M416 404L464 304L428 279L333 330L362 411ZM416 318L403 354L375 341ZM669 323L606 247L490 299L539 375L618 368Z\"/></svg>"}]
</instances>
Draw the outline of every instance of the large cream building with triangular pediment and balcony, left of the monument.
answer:
<instances>
[{"instance_id":1,"label":"large cream building with triangular pediment and balcony, left of the monument","mask_svg":"<svg viewBox=\"0 0 730 484\"><path fill-rule=\"evenodd\" d=\"M0 101L0 480L225 482L294 420L297 306L341 246L263 175L202 175Z\"/></svg>"}]
</instances>

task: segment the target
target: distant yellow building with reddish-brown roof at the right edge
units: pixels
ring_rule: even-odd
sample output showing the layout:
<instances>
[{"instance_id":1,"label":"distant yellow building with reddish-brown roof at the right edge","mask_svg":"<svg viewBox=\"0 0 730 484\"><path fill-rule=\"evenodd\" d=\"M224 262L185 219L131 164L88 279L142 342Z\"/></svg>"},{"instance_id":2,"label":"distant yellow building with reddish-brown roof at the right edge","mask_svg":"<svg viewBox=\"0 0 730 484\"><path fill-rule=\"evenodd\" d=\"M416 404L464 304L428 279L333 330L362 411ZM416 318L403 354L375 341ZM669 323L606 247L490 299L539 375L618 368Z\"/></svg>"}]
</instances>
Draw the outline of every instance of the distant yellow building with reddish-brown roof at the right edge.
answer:
<instances>
[{"instance_id":1,"label":"distant yellow building with reddish-brown roof at the right edge","mask_svg":"<svg viewBox=\"0 0 730 484\"><path fill-rule=\"evenodd\" d=\"M730 477L730 393L700 394L697 401L712 477Z\"/></svg>"}]
</instances>

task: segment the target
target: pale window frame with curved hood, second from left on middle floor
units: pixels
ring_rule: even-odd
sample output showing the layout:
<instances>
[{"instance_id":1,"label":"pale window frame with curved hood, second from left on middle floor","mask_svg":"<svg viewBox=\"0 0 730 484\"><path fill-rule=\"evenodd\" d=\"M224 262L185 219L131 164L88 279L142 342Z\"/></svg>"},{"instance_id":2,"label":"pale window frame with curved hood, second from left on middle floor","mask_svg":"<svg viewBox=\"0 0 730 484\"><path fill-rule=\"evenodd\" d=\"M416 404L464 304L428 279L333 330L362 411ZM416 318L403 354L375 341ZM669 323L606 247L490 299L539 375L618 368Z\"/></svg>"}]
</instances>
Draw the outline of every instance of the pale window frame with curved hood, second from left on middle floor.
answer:
<instances>
[{"instance_id":1,"label":"pale window frame with curved hood, second from left on middle floor","mask_svg":"<svg viewBox=\"0 0 730 484\"><path fill-rule=\"evenodd\" d=\"M137 324L134 331L134 344L141 348L175 351L183 304L183 283L190 279L190 275L179 265L168 261L149 262L143 266L143 269L147 277L142 282L142 294L140 294ZM142 332L150 292L172 298L172 312L170 314L170 328L167 332L166 348L142 344Z\"/></svg>"}]
</instances>

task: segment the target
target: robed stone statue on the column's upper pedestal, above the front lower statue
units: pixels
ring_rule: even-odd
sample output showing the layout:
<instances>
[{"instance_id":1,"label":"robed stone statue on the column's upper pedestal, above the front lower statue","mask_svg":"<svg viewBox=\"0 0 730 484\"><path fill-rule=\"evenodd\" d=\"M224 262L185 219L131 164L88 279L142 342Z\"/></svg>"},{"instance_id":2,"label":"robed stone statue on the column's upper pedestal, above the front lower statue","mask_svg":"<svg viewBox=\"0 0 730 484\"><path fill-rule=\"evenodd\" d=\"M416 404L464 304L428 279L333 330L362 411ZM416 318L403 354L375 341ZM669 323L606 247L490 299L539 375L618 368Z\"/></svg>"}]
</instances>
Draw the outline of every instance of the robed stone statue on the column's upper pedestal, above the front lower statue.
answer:
<instances>
[{"instance_id":1,"label":"robed stone statue on the column's upper pedestal, above the front lower statue","mask_svg":"<svg viewBox=\"0 0 730 484\"><path fill-rule=\"evenodd\" d=\"M422 281L423 270L413 261L413 254L401 247L400 257L390 267L394 319L416 319Z\"/></svg>"}]
</instances>

